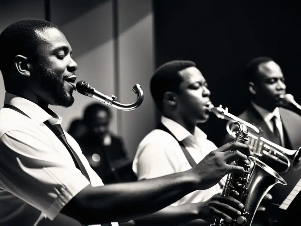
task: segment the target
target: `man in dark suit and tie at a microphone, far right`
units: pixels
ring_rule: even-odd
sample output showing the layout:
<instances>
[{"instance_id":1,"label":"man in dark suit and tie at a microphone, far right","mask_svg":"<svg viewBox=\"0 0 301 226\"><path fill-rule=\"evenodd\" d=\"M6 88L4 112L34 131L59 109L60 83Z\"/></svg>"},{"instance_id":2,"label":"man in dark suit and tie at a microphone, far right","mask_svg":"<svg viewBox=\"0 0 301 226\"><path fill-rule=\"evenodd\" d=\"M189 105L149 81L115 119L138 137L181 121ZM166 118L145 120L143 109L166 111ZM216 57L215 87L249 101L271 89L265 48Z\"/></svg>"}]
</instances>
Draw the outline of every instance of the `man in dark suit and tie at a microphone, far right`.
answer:
<instances>
[{"instance_id":1,"label":"man in dark suit and tie at a microphone, far right","mask_svg":"<svg viewBox=\"0 0 301 226\"><path fill-rule=\"evenodd\" d=\"M250 104L238 118L257 128L261 127L263 138L290 150L298 149L301 146L301 118L290 110L278 107L279 96L286 93L279 65L268 57L255 58L247 64L245 81L250 93ZM227 134L224 142L231 139L233 138ZM293 156L288 155L291 163ZM262 160L278 172L284 167L266 156ZM281 214L282 210L278 207L301 178L301 171L290 169L281 176L286 180L287 186L275 185L269 192L273 196L273 204L265 205L266 213L274 217L277 217L278 211Z\"/></svg>"}]
</instances>

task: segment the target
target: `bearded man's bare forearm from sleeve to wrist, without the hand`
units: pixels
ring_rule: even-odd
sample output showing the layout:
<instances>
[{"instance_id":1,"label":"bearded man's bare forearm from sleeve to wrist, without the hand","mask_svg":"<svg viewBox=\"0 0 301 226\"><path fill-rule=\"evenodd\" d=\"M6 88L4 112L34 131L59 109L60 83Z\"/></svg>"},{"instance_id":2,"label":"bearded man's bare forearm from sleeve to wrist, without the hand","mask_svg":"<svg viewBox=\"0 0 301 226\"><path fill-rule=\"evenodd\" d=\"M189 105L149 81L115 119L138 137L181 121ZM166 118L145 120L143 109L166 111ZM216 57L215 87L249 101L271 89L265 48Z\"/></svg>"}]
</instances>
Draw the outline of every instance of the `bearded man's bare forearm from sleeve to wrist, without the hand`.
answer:
<instances>
[{"instance_id":1,"label":"bearded man's bare forearm from sleeve to wrist, without the hand","mask_svg":"<svg viewBox=\"0 0 301 226\"><path fill-rule=\"evenodd\" d=\"M196 190L199 182L194 174L182 172L134 183L88 187L77 195L84 211L80 221L101 224L141 218Z\"/></svg>"}]
</instances>

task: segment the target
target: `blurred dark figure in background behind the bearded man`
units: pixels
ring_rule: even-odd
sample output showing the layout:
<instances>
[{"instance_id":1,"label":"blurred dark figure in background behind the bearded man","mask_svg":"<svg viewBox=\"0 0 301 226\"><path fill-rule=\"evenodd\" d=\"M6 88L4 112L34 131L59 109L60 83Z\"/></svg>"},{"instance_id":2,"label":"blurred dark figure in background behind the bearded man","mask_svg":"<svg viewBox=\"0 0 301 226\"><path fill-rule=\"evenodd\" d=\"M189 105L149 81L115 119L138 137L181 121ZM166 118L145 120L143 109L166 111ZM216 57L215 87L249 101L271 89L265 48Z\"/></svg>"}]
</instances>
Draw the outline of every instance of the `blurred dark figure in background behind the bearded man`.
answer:
<instances>
[{"instance_id":1,"label":"blurred dark figure in background behind the bearded man","mask_svg":"<svg viewBox=\"0 0 301 226\"><path fill-rule=\"evenodd\" d=\"M85 134L77 142L104 184L136 180L123 139L109 129L111 120L112 113L107 106L98 103L88 105L82 121Z\"/></svg>"}]
</instances>

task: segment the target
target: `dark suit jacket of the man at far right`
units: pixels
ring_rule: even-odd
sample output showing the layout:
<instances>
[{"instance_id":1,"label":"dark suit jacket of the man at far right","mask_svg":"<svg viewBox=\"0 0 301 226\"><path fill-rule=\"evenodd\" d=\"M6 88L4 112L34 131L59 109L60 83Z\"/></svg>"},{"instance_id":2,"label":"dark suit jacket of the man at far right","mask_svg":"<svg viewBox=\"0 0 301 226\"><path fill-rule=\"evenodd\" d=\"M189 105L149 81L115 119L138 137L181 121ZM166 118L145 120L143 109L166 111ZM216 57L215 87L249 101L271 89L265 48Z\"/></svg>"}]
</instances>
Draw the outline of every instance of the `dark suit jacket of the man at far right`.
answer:
<instances>
[{"instance_id":1,"label":"dark suit jacket of the man at far right","mask_svg":"<svg viewBox=\"0 0 301 226\"><path fill-rule=\"evenodd\" d=\"M296 113L284 108L279 108L279 112L284 130L285 148L296 150L301 146L301 117ZM251 124L255 124L255 126L258 128L261 127L262 130L264 130L263 137L269 141L274 142L274 134L271 130L269 130L265 121L253 106L249 106L242 114L237 117ZM233 140L233 137L227 134L224 143L230 142L231 140ZM292 163L292 158L290 158L290 160ZM291 168L289 172L281 176L287 182L287 185L283 186L281 184L276 184L269 191L269 193L273 196L272 202L277 205L280 205L293 189L293 187L295 187L295 185L301 178L301 169L295 171ZM267 210L266 213L275 217L283 214L282 210L279 210L278 206L274 204L265 206Z\"/></svg>"}]
</instances>

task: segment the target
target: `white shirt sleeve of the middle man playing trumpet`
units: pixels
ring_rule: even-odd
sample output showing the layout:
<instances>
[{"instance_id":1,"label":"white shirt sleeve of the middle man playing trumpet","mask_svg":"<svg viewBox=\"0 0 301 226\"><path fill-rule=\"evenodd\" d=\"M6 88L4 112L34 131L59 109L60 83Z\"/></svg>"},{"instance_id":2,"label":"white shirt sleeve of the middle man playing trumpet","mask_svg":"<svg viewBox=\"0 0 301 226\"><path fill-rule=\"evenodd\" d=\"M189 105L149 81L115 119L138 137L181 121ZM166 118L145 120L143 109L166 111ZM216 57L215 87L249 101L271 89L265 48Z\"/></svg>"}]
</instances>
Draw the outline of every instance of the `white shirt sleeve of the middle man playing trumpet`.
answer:
<instances>
[{"instance_id":1,"label":"white shirt sleeve of the middle man playing trumpet","mask_svg":"<svg viewBox=\"0 0 301 226\"><path fill-rule=\"evenodd\" d=\"M170 152L160 142L150 142L138 152L140 153L136 164L138 180L175 173Z\"/></svg>"}]
</instances>

